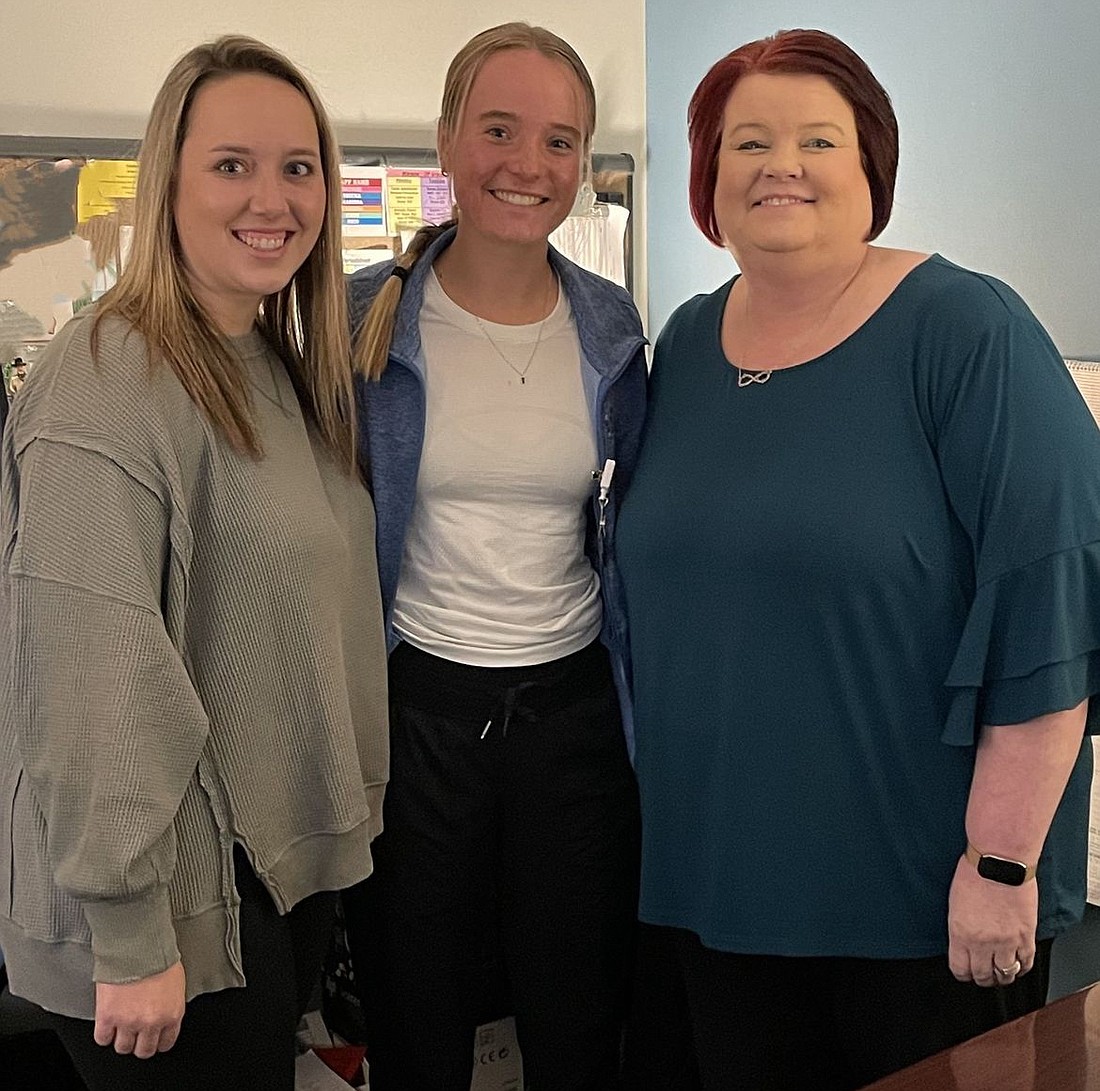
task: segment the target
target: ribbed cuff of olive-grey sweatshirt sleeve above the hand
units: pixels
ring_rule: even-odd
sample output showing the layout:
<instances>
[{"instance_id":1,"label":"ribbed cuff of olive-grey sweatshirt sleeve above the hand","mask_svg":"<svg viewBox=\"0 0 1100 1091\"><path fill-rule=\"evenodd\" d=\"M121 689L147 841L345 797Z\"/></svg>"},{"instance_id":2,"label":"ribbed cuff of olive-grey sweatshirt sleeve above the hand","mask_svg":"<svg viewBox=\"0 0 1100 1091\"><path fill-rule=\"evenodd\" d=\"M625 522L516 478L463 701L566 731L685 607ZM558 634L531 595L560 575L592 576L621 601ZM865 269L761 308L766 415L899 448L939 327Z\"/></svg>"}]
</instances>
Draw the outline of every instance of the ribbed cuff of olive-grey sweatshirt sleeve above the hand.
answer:
<instances>
[{"instance_id":1,"label":"ribbed cuff of olive-grey sweatshirt sleeve above the hand","mask_svg":"<svg viewBox=\"0 0 1100 1091\"><path fill-rule=\"evenodd\" d=\"M140 981L179 961L167 886L125 902L85 902L84 917L97 982Z\"/></svg>"}]
</instances>

